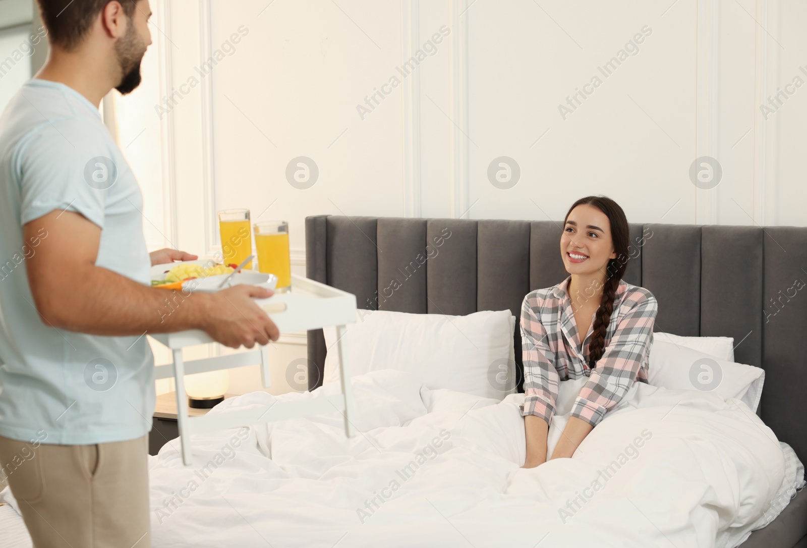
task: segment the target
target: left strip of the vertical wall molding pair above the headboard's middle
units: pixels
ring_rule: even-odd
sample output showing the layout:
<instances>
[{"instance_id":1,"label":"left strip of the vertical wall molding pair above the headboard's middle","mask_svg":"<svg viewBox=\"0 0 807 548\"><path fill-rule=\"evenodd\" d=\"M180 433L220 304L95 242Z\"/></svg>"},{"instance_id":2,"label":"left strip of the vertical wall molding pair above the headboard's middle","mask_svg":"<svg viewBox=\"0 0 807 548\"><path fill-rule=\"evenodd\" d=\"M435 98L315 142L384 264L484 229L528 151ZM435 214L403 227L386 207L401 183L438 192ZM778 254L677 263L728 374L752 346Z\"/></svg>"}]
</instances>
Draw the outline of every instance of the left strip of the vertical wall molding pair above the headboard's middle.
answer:
<instances>
[{"instance_id":1,"label":"left strip of the vertical wall molding pair above the headboard's middle","mask_svg":"<svg viewBox=\"0 0 807 548\"><path fill-rule=\"evenodd\" d=\"M420 48L420 0L401 1L401 66ZM423 211L420 169L420 70L404 82L403 98L403 216Z\"/></svg>"}]
</instances>

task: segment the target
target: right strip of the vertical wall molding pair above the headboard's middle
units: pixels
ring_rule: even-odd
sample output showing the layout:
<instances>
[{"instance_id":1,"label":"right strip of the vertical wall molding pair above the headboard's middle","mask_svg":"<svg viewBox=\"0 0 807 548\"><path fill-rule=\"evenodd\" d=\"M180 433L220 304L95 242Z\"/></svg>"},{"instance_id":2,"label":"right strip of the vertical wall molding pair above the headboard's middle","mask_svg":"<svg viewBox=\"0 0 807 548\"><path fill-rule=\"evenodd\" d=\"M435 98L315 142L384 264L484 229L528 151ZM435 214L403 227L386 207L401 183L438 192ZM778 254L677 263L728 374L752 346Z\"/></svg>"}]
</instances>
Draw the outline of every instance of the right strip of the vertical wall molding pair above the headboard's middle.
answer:
<instances>
[{"instance_id":1,"label":"right strip of the vertical wall molding pair above the headboard's middle","mask_svg":"<svg viewBox=\"0 0 807 548\"><path fill-rule=\"evenodd\" d=\"M468 0L451 0L451 91L449 111L454 123L451 126L449 200L452 219L468 213L470 180L468 178L468 31L462 17ZM465 15L467 19L467 15Z\"/></svg>"}]
</instances>

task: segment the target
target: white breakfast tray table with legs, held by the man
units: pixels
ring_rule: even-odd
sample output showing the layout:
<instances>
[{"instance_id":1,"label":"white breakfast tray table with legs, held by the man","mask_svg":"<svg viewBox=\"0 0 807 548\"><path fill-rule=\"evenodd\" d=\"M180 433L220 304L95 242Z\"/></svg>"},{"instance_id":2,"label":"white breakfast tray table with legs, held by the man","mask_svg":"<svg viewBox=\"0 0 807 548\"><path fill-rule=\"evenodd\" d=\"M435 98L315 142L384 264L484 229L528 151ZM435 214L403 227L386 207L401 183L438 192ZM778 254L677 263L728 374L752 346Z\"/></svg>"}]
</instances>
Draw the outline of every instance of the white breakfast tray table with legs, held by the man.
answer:
<instances>
[{"instance_id":1,"label":"white breakfast tray table with legs, held by the man","mask_svg":"<svg viewBox=\"0 0 807 548\"><path fill-rule=\"evenodd\" d=\"M215 342L207 333L192 329L177 333L157 333L153 339L172 350L174 362L154 368L155 379L174 377L177 385L177 420L182 445L182 462L191 464L190 434L211 430L232 429L241 426L257 425L270 420L291 419L299 416L315 415L337 408L345 416L345 435L353 437L353 424L349 417L353 413L353 395L350 387L349 364L346 361L345 325L356 321L356 296L324 283L314 282L296 274L291 274L291 292L273 295L269 299L255 299L266 310L280 333L291 333L337 326L337 357L341 370L341 394L328 398L315 398L305 401L275 403L267 408L252 408L240 411L214 414L213 416L188 416L184 376L233 367L260 365L261 382L270 387L269 356L266 346L246 352L202 358L183 362L182 348Z\"/></svg>"}]
</instances>

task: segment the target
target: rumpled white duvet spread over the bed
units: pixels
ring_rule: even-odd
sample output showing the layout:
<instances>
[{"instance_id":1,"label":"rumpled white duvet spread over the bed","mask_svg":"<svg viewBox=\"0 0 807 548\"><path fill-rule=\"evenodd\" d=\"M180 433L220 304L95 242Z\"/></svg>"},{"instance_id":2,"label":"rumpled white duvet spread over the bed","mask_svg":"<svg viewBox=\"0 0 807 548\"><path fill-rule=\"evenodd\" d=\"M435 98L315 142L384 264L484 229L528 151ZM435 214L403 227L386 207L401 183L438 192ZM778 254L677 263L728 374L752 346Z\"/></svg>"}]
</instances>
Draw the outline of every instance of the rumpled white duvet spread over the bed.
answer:
<instances>
[{"instance_id":1,"label":"rumpled white duvet spread over the bed","mask_svg":"<svg viewBox=\"0 0 807 548\"><path fill-rule=\"evenodd\" d=\"M560 412L582 380L561 383ZM705 392L637 383L573 458L524 469L523 394L428 390L395 370L352 382L353 438L334 409L195 435L190 467L178 441L149 458L153 546L736 546L803 477L745 404Z\"/></svg>"}]
</instances>

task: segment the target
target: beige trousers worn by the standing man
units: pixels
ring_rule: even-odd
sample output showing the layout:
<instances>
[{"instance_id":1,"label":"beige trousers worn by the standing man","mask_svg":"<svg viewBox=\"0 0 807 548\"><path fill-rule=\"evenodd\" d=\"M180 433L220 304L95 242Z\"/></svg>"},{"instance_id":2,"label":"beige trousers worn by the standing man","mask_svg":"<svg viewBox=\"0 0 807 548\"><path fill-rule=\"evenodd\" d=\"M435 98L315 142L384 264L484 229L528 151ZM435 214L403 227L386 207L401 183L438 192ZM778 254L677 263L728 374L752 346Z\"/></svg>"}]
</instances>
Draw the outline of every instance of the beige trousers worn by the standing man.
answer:
<instances>
[{"instance_id":1,"label":"beige trousers worn by the standing man","mask_svg":"<svg viewBox=\"0 0 807 548\"><path fill-rule=\"evenodd\" d=\"M148 436L93 446L0 436L6 477L35 548L150 548Z\"/></svg>"}]
</instances>

